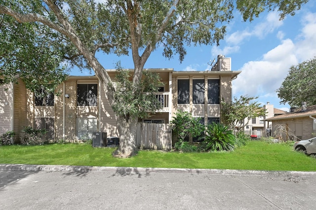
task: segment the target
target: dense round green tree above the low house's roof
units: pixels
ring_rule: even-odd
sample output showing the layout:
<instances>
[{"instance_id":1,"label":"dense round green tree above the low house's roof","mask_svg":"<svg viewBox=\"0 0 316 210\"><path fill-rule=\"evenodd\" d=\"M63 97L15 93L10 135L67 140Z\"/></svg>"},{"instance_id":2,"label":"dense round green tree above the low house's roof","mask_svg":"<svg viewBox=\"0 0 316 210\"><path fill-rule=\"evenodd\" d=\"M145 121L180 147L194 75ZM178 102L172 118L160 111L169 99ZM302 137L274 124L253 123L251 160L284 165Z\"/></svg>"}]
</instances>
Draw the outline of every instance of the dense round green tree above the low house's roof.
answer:
<instances>
[{"instance_id":1,"label":"dense round green tree above the low house's roof","mask_svg":"<svg viewBox=\"0 0 316 210\"><path fill-rule=\"evenodd\" d=\"M288 103L291 107L300 107L302 102L316 105L316 57L292 66L276 90L281 103Z\"/></svg>"}]
</instances>

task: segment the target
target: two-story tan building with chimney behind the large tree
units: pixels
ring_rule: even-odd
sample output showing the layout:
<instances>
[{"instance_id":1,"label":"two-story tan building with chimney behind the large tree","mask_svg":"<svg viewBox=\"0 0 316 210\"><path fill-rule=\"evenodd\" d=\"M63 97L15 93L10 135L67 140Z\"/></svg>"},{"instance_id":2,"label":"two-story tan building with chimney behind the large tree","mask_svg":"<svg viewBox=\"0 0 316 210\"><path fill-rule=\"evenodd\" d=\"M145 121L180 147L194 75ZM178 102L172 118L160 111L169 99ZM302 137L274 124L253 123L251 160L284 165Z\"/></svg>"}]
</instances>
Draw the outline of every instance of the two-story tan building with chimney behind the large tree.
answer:
<instances>
[{"instance_id":1,"label":"two-story tan building with chimney behind the large tree","mask_svg":"<svg viewBox=\"0 0 316 210\"><path fill-rule=\"evenodd\" d=\"M218 56L210 71L146 70L157 72L164 85L156 93L163 108L139 119L144 123L169 123L177 110L191 112L203 124L221 122L220 100L232 100L232 80L240 73L231 70L231 59L224 56ZM115 78L116 70L107 72ZM25 92L21 105L27 107L26 125L45 129L51 140L91 139L96 131L119 137L115 113L96 76L69 76L56 88L57 95ZM14 103L19 104L19 99Z\"/></svg>"}]
</instances>

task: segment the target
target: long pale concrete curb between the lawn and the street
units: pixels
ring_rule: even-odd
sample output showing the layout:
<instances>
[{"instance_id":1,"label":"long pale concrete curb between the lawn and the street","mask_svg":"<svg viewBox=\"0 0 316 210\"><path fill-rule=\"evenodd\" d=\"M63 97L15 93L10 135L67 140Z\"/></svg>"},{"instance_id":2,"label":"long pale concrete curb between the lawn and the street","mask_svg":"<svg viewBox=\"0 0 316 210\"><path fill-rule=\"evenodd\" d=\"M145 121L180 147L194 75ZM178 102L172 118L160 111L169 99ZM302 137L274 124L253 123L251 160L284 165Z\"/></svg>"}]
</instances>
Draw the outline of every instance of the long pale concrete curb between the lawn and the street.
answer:
<instances>
[{"instance_id":1,"label":"long pale concrete curb between the lawn and the street","mask_svg":"<svg viewBox=\"0 0 316 210\"><path fill-rule=\"evenodd\" d=\"M178 168L132 168L132 167L97 167L97 166L55 166L55 165L24 165L0 164L0 171L27 171L27 172L112 172L121 175L150 173L176 173L200 175L254 175L254 176L314 176L316 172L296 171L254 171L230 169L178 169Z\"/></svg>"}]
</instances>

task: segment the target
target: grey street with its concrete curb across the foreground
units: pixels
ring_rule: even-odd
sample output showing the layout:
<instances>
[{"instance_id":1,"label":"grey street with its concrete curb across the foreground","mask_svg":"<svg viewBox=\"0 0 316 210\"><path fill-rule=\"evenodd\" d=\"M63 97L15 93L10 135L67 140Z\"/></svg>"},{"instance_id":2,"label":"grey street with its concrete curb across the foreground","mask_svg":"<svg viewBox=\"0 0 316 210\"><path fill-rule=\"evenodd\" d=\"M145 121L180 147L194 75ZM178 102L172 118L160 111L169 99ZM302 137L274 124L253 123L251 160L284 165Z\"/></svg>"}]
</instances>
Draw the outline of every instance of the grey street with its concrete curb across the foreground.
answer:
<instances>
[{"instance_id":1,"label":"grey street with its concrete curb across the foreground","mask_svg":"<svg viewBox=\"0 0 316 210\"><path fill-rule=\"evenodd\" d=\"M1 210L312 210L316 173L0 165Z\"/></svg>"}]
</instances>

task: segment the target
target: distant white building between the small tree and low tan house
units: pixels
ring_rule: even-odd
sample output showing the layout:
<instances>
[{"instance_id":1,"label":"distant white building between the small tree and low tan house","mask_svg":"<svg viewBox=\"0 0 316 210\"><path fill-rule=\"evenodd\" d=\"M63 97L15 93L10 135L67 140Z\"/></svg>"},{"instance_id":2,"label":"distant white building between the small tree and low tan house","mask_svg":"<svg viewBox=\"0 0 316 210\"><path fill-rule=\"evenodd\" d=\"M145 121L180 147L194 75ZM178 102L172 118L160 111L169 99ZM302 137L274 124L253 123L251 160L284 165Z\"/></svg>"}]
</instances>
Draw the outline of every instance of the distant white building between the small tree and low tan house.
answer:
<instances>
[{"instance_id":1,"label":"distant white building between the small tree and low tan house","mask_svg":"<svg viewBox=\"0 0 316 210\"><path fill-rule=\"evenodd\" d=\"M271 124L269 124L268 121L265 121L265 119L287 113L286 111L275 108L274 105L271 105L269 102L267 102L266 105L263 105L263 108L267 112L265 116L252 118L249 121L248 119L244 119L243 125L246 125L244 128L245 134L255 135L258 138L261 136L271 136Z\"/></svg>"}]
</instances>

